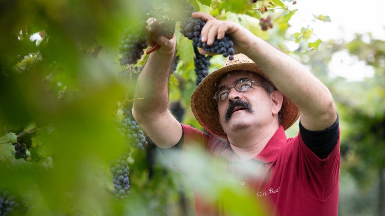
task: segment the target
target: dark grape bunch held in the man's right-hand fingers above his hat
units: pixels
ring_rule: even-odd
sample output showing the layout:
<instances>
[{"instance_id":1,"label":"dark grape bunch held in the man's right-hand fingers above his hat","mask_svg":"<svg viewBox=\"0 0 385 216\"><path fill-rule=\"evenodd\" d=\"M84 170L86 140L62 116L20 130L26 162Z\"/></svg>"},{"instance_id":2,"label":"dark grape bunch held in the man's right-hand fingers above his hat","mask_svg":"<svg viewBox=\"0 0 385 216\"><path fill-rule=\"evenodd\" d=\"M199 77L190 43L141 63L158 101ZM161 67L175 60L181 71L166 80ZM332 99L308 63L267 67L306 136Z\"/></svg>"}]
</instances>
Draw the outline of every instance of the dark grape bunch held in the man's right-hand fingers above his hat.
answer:
<instances>
[{"instance_id":1,"label":"dark grape bunch held in the man's right-hand fingers above his hat","mask_svg":"<svg viewBox=\"0 0 385 216\"><path fill-rule=\"evenodd\" d=\"M225 34L225 36L220 40L215 38L215 41L211 46L208 46L206 43L203 43L200 38L200 32L206 23L200 18L191 17L192 12L193 6L187 4L185 7L186 18L181 21L180 25L181 33L190 40L193 40L194 47L203 48L203 50L206 52L222 54L223 57L229 56L229 60L233 60L235 54L233 48L234 43L230 39L230 37Z\"/></svg>"}]
</instances>

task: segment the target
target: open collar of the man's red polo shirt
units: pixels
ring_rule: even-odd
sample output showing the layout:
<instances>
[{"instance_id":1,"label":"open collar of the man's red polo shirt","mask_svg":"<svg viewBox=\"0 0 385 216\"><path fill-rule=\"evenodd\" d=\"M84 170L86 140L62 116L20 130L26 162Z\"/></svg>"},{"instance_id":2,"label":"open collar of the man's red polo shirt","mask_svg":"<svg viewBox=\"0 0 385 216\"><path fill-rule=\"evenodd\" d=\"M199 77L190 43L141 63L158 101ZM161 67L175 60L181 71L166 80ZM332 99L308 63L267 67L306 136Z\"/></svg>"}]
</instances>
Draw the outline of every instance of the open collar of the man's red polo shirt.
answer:
<instances>
[{"instance_id":1,"label":"open collar of the man's red polo shirt","mask_svg":"<svg viewBox=\"0 0 385 216\"><path fill-rule=\"evenodd\" d=\"M282 147L287 142L285 129L281 125L276 133L273 135L273 137L270 139L268 144L266 144L265 148L259 153L257 156L255 156L253 159L258 160L263 163L271 163L275 161L278 157L279 152L281 152ZM221 155L230 160L230 161L239 161L238 155L233 151L233 149L230 147L230 144L227 145L227 148L222 151Z\"/></svg>"}]
</instances>

